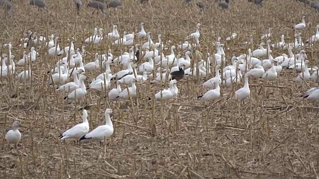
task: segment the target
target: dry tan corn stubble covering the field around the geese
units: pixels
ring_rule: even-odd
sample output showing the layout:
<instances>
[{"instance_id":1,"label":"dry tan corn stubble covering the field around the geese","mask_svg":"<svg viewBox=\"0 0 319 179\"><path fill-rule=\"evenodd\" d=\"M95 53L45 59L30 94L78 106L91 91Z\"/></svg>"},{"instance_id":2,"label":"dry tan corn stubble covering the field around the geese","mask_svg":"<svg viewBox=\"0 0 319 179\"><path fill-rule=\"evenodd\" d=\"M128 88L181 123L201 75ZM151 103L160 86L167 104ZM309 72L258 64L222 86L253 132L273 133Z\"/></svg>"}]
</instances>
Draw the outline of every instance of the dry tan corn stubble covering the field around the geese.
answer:
<instances>
[{"instance_id":1,"label":"dry tan corn stubble covering the field around the geese","mask_svg":"<svg viewBox=\"0 0 319 179\"><path fill-rule=\"evenodd\" d=\"M13 0L14 14L2 17L0 42L12 42L13 55L19 60L23 49L19 39L27 30L61 38L60 45L68 45L67 38L76 37L75 46L92 34L94 27L102 27L104 33L117 24L120 33L139 31L140 23L146 23L146 31L162 34L163 42L171 40L177 45L201 23L200 51L214 54L209 42L218 36L227 37L235 32L239 38L227 43L226 59L246 53L238 42L254 37L254 49L261 41L259 36L273 27L272 42L292 42L292 26L306 16L308 28L303 40L314 34L318 14L309 6L293 0L265 0L263 8L255 8L246 0L233 0L230 10L216 7L203 13L193 7L183 7L172 0L151 0L152 6L142 6L135 1L122 0L122 8L104 14L92 15L83 0L81 14L70 0L47 0L50 12L38 12L35 8L18 4ZM179 1L179 0L176 0ZM4 12L1 12L3 15ZM168 46L169 48L170 46ZM110 46L103 41L101 47L88 46L85 62L93 61L95 52L112 49L116 57L130 47ZM227 49L229 48L229 49ZM307 49L312 66L318 64L318 46ZM122 101L110 103L104 93L89 90L85 103L75 105L63 100L65 94L46 86L47 71L58 58L48 58L45 50L38 49L37 63L32 66L32 81L17 84L12 79L0 81L0 133L4 136L12 121L20 121L22 140L18 147L8 148L1 141L0 176L4 178L128 178L128 179L268 179L315 178L319 173L318 155L318 107L299 99L316 84L301 87L292 81L296 73L283 70L274 84L251 81L251 97L243 104L226 101L231 91L241 88L222 88L222 97L214 103L197 100L204 90L202 81L186 77L178 82L180 94L168 102L146 102L148 96L160 90L150 81L138 83L139 107ZM274 56L286 51L273 50ZM1 48L1 54L7 48ZM176 52L176 54L181 52ZM164 52L169 54L169 50ZM117 66L112 65L112 73ZM214 76L214 67L211 67ZM16 67L16 73L24 67ZM99 73L98 73L99 74ZM87 82L97 74L86 74ZM206 79L204 79L206 80ZM10 98L15 94L16 98ZM88 106L87 106L88 105ZM82 106L89 112L91 130L104 124L105 108L114 109L115 132L100 147L97 142L85 141L81 146L73 140L61 143L58 135L81 121Z\"/></svg>"}]
</instances>

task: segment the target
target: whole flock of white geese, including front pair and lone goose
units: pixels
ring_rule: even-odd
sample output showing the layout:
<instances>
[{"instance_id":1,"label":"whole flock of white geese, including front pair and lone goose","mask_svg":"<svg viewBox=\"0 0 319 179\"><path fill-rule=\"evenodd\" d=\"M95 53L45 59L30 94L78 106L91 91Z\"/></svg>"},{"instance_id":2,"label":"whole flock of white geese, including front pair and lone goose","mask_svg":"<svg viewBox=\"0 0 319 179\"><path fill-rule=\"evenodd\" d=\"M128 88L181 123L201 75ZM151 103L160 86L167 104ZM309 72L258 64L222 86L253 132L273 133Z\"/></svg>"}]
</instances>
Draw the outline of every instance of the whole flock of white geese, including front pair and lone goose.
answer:
<instances>
[{"instance_id":1,"label":"whole flock of white geese, including front pair and lone goose","mask_svg":"<svg viewBox=\"0 0 319 179\"><path fill-rule=\"evenodd\" d=\"M307 83L307 81L318 83L318 68L309 67L310 63L307 60L305 48L311 48L312 44L319 41L319 25L316 26L316 34L309 38L305 44L302 42L302 33L295 34L294 42L285 42L285 37L282 35L281 41L272 44L269 39L272 35L272 29L269 28L261 36L261 39L266 41L266 43L262 42L259 49L251 50L248 48L247 54L238 57L233 56L230 65L226 65L228 61L225 59L225 45L221 42L220 37L216 42L212 42L217 47L215 54L207 53L207 56L204 57L201 52L196 50L196 47L200 46L200 23L196 25L195 32L185 37L183 43L170 47L171 53L169 55L162 53L167 46L162 43L161 35L158 35L158 42L153 42L151 38L152 33L146 32L144 25L142 22L141 30L138 33L127 33L124 31L122 34L119 33L116 25L113 25L112 31L108 34L103 34L102 28L95 28L93 35L83 41L81 48L74 46L73 38L69 39L68 46L60 48L58 43L59 37L51 35L46 41L45 37L28 31L28 36L21 39L21 46L30 48L30 51L28 53L24 51L23 58L16 64L25 66L26 70L19 72L14 77L14 74L17 72L15 72L14 55L11 52L12 45L7 43L5 46L8 48L8 56L2 55L1 57L0 78L6 79L12 76L19 83L32 79L31 65L37 61L39 55L36 49L44 47L46 48L45 53L48 57L64 56L56 62L56 67L47 72L49 75L47 85L55 87L61 93L66 93L65 100L73 100L75 102L85 98L88 89L108 91L107 97L111 101L134 99L138 95L136 83L149 79L153 79L151 81L152 84L169 83L168 89L160 89L155 95L149 97L149 100L166 101L178 95L177 84L184 76L200 80L209 76L211 69L215 69L215 77L202 84L202 87L208 89L208 91L198 96L198 100L216 100L220 97L220 86L231 87L244 80L244 86L227 98L243 101L249 98L251 94L249 78L273 82L283 69L291 69L299 73L294 81L297 84ZM295 25L295 29L299 31L306 29L305 16L302 18L301 23ZM240 43L239 46L250 47L249 45L253 45L252 37L250 35L248 41ZM237 34L232 33L225 40L231 41L236 38ZM144 39L147 39L147 41ZM87 55L85 50L86 45L93 43L99 46L101 41L104 40L112 41L113 45L133 46L128 52L124 52L118 57L112 55L111 49L105 54L95 53L94 61L84 64L83 59ZM264 45L267 45L267 47L264 48ZM175 54L174 50L176 47L179 51L185 53L185 58L181 54ZM272 49L287 50L288 55L282 54L274 58ZM294 54L293 50L299 53ZM268 59L261 60L260 58ZM145 62L142 63L142 61ZM110 68L111 64L122 67L122 70L112 72ZM103 71L104 73L91 79L89 85L86 85L85 80L87 77L85 75L99 71ZM153 73L155 74L154 71L156 71L156 76L153 76ZM71 77L73 77L73 81L69 82ZM115 88L113 89L112 84L115 84ZM128 87L121 89L121 85ZM315 101L319 100L319 88L310 89L301 95L301 97L307 97ZM112 109L106 109L105 125L101 125L89 132L87 111L83 110L83 123L70 128L59 137L61 140L73 138L79 141L97 140L103 142L105 137L110 137L113 134L114 129L110 119L111 113ZM17 129L19 126L19 122L13 122L12 130L6 133L5 139L9 144L17 144L20 141L21 134Z\"/></svg>"}]
</instances>

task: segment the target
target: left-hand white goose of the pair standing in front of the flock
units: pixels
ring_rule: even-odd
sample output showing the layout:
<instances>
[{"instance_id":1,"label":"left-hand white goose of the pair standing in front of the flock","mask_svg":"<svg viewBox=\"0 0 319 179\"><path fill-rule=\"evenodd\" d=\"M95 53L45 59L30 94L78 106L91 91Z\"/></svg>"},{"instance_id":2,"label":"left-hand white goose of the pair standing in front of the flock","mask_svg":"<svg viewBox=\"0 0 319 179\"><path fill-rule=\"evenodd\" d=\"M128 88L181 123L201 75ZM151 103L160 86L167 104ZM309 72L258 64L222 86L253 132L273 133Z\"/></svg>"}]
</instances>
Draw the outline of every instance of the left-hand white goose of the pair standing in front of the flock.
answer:
<instances>
[{"instance_id":1,"label":"left-hand white goose of the pair standing in front of the flock","mask_svg":"<svg viewBox=\"0 0 319 179\"><path fill-rule=\"evenodd\" d=\"M90 130L87 117L88 117L88 112L84 109L82 112L83 122L73 126L71 129L68 129L63 134L59 135L60 140L65 140L69 138L80 140L81 137L86 135Z\"/></svg>"}]
</instances>

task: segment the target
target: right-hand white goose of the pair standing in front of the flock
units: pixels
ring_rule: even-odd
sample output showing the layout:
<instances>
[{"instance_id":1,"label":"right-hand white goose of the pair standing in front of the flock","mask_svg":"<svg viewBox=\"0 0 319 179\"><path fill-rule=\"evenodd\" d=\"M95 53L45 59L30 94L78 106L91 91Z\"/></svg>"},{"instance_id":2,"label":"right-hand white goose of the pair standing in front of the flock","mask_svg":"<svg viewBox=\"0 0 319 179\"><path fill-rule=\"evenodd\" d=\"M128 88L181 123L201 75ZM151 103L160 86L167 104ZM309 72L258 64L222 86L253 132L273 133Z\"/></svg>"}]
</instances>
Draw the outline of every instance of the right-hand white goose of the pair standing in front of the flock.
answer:
<instances>
[{"instance_id":1,"label":"right-hand white goose of the pair standing in front of the flock","mask_svg":"<svg viewBox=\"0 0 319 179\"><path fill-rule=\"evenodd\" d=\"M91 132L86 134L85 136L81 137L80 140L97 140L100 142L100 145L103 144L104 137L111 137L114 128L113 123L111 121L110 115L112 114L112 109L106 109L104 112L105 115L105 125L98 126L97 128L93 129Z\"/></svg>"}]
</instances>

